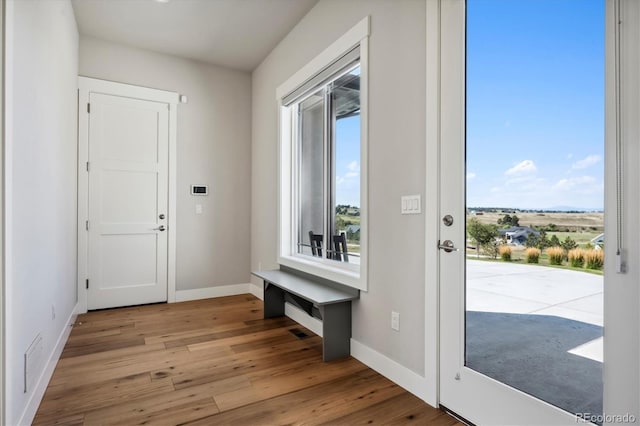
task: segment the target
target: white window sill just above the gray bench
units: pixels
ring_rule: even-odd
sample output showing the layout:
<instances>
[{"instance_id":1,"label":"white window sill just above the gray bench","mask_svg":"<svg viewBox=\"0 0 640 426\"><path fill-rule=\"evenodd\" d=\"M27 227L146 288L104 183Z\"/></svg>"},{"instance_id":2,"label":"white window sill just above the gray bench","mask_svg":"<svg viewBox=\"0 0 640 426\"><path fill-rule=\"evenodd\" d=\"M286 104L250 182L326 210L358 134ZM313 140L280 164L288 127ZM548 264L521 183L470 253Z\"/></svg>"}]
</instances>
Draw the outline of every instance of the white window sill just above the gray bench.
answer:
<instances>
[{"instance_id":1,"label":"white window sill just above the gray bench","mask_svg":"<svg viewBox=\"0 0 640 426\"><path fill-rule=\"evenodd\" d=\"M308 256L280 256L280 265L296 269L307 274L325 278L358 290L366 291L366 283L360 277L360 268L357 265L340 264L332 260L316 260Z\"/></svg>"}]
</instances>

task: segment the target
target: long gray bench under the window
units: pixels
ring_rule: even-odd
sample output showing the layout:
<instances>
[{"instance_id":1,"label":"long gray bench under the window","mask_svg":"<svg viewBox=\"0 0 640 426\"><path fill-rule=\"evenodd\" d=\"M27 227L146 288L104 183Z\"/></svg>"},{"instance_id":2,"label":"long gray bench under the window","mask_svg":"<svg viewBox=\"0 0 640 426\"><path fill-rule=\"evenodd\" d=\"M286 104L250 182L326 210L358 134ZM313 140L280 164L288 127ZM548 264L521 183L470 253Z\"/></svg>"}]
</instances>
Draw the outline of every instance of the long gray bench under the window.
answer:
<instances>
[{"instance_id":1,"label":"long gray bench under the window","mask_svg":"<svg viewBox=\"0 0 640 426\"><path fill-rule=\"evenodd\" d=\"M252 272L264 282L264 318L284 315L286 296L322 320L322 360L332 361L351 354L351 301L359 290L329 286L283 270Z\"/></svg>"}]
</instances>

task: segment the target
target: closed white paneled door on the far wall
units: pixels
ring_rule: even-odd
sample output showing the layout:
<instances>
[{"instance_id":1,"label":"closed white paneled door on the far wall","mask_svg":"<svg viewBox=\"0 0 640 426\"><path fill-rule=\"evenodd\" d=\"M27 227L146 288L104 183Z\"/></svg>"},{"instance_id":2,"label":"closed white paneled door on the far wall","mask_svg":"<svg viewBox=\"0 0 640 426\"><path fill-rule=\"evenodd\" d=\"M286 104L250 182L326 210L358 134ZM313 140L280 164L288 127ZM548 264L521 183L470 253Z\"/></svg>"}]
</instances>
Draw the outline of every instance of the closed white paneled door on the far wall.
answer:
<instances>
[{"instance_id":1,"label":"closed white paneled door on the far wall","mask_svg":"<svg viewBox=\"0 0 640 426\"><path fill-rule=\"evenodd\" d=\"M89 93L88 309L167 301L169 105Z\"/></svg>"}]
</instances>

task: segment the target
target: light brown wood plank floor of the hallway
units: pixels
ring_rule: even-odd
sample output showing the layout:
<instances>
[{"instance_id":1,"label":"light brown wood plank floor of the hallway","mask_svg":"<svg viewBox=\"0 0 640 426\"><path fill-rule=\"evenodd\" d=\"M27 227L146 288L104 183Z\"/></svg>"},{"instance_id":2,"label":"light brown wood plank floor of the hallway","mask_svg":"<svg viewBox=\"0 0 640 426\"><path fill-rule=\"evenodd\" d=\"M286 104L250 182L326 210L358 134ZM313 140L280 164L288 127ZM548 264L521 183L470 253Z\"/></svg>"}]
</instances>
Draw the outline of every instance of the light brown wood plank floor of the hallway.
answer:
<instances>
[{"instance_id":1,"label":"light brown wood plank floor of the hallway","mask_svg":"<svg viewBox=\"0 0 640 426\"><path fill-rule=\"evenodd\" d=\"M411 422L460 424L240 295L79 316L34 424Z\"/></svg>"}]
</instances>

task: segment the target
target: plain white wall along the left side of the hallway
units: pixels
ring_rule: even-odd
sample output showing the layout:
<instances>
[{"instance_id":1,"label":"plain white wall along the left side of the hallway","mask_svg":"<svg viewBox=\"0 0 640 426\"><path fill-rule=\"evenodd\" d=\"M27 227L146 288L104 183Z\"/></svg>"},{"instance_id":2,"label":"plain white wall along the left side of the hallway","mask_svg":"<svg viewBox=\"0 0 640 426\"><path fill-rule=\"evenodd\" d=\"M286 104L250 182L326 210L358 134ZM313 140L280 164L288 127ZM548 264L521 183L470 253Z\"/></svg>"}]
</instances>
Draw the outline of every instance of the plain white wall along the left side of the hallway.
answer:
<instances>
[{"instance_id":1,"label":"plain white wall along the left side of the hallway","mask_svg":"<svg viewBox=\"0 0 640 426\"><path fill-rule=\"evenodd\" d=\"M76 305L78 31L66 1L7 5L7 424L29 423ZM53 318L52 309L55 309ZM40 387L23 354L40 333ZM32 402L29 405L29 401ZM35 405L34 405L35 404Z\"/></svg>"}]
</instances>

